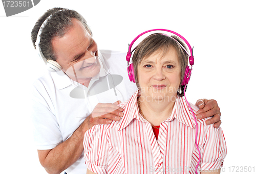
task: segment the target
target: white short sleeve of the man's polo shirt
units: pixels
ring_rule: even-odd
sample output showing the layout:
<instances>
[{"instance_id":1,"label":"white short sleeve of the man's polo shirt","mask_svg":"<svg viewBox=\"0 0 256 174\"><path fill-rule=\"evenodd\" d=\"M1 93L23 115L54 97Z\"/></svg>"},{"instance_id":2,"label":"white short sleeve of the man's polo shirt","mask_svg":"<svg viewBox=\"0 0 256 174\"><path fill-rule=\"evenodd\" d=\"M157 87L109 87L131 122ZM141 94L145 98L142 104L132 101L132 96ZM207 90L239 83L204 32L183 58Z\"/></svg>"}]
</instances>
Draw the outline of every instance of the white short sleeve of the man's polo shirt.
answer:
<instances>
[{"instance_id":1,"label":"white short sleeve of the man's polo shirt","mask_svg":"<svg viewBox=\"0 0 256 174\"><path fill-rule=\"evenodd\" d=\"M32 88L32 122L34 143L37 150L49 150L62 142L54 107L47 91L40 81Z\"/></svg>"}]
</instances>

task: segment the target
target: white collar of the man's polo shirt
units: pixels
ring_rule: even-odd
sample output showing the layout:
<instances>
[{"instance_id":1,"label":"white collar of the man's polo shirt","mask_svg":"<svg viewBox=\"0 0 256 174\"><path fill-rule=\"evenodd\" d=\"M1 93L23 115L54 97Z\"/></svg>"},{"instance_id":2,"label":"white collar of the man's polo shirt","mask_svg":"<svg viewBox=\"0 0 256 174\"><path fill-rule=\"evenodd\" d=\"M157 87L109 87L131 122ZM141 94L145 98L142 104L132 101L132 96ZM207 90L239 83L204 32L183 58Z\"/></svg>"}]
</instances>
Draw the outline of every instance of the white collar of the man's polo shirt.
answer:
<instances>
[{"instance_id":1,"label":"white collar of the man's polo shirt","mask_svg":"<svg viewBox=\"0 0 256 174\"><path fill-rule=\"evenodd\" d=\"M99 63L100 63L100 71L95 77L92 78L92 80L90 82L91 85L93 84L93 82L97 81L100 77L104 77L109 74L109 68L106 66L105 58L102 56L100 51L98 51L98 58L99 58ZM75 86L81 85L81 84L77 83L76 81L73 81L72 79L70 79L67 76L67 74L65 72L63 72L62 70L60 70L58 72L49 72L49 73L51 73L54 84L59 90L64 89L70 85L75 85ZM88 86L89 88L91 86L90 84Z\"/></svg>"}]
</instances>

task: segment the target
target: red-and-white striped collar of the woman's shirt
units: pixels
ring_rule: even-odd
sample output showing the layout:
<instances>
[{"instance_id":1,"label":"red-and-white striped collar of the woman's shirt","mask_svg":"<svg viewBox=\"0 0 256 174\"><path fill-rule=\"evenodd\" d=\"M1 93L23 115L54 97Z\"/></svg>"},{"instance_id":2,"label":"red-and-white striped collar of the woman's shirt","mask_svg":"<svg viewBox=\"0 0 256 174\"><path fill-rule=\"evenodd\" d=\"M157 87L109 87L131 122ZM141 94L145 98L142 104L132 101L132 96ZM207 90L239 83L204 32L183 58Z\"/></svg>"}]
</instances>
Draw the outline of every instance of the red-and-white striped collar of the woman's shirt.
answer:
<instances>
[{"instance_id":1,"label":"red-and-white striped collar of the woman's shirt","mask_svg":"<svg viewBox=\"0 0 256 174\"><path fill-rule=\"evenodd\" d=\"M137 90L130 98L130 100L126 102L123 108L124 117L122 117L122 120L120 122L119 131L126 128L134 118L138 119L139 121L146 121L139 114L139 108L137 104L137 98L139 96L140 92ZM184 125L195 129L196 122L184 97L177 96L172 115L170 115L165 121L172 121L174 118L177 119L179 122L183 123Z\"/></svg>"}]
</instances>

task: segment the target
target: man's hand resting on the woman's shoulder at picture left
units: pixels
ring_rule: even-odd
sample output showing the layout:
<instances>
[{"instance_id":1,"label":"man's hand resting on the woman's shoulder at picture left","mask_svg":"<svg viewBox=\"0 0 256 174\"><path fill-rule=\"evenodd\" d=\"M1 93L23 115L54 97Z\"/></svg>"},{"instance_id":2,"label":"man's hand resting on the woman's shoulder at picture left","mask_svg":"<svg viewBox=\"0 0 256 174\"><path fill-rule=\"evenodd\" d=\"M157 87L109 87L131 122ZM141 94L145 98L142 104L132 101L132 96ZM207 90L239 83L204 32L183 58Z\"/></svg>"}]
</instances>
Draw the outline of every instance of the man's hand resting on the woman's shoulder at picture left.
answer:
<instances>
[{"instance_id":1,"label":"man's hand resting on the woman's shoulder at picture left","mask_svg":"<svg viewBox=\"0 0 256 174\"><path fill-rule=\"evenodd\" d=\"M120 101L111 103L98 103L93 112L84 120L87 123L88 129L94 125L110 124L112 120L118 121L123 116L123 109L117 106Z\"/></svg>"}]
</instances>

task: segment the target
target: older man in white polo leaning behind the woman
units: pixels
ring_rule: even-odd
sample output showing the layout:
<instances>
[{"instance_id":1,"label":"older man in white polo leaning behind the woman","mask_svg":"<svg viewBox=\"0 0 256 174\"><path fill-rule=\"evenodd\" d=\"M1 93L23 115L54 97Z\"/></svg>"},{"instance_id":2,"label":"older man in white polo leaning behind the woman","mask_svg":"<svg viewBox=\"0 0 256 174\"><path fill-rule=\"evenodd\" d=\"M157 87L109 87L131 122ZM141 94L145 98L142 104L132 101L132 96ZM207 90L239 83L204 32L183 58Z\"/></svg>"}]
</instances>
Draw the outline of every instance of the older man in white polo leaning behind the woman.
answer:
<instances>
[{"instance_id":1,"label":"older man in white polo leaning behind the woman","mask_svg":"<svg viewBox=\"0 0 256 174\"><path fill-rule=\"evenodd\" d=\"M98 51L86 21L69 9L48 10L31 37L39 55L56 71L39 78L32 91L39 161L48 173L86 173L84 133L94 125L119 120L123 114L117 104L137 89L126 74L125 54ZM198 117L214 116L208 124L219 127L217 102L199 100L197 105Z\"/></svg>"}]
</instances>

